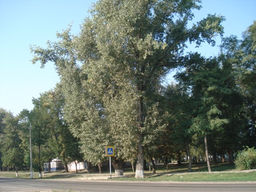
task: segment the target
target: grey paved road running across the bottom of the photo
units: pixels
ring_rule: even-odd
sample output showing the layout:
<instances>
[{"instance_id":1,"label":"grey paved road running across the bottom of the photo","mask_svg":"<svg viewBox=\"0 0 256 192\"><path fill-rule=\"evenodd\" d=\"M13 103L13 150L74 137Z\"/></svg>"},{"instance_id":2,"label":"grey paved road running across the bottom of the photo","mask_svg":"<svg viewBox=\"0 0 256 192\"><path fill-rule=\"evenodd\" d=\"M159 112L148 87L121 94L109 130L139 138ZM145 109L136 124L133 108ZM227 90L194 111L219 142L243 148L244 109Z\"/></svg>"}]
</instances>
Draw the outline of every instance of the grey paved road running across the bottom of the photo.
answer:
<instances>
[{"instance_id":1,"label":"grey paved road running across the bottom of the photo","mask_svg":"<svg viewBox=\"0 0 256 192\"><path fill-rule=\"evenodd\" d=\"M256 182L246 183L172 183L172 182L114 182L114 181L54 181L47 179L18 179L0 178L0 191L51 191L75 190L75 191L256 191Z\"/></svg>"}]
</instances>

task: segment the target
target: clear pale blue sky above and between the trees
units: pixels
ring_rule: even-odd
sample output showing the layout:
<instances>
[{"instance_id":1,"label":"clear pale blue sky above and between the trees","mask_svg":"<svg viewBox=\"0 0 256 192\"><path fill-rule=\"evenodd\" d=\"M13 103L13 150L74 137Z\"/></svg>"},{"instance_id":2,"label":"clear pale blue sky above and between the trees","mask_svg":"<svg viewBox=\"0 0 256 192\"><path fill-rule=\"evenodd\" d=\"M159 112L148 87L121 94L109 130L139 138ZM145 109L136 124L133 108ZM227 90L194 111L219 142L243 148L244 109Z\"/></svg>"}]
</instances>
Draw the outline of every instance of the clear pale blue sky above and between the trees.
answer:
<instances>
[{"instance_id":1,"label":"clear pale blue sky above and between the trees","mask_svg":"<svg viewBox=\"0 0 256 192\"><path fill-rule=\"evenodd\" d=\"M33 109L31 99L53 89L59 81L53 64L44 69L33 65L29 46L46 46L55 41L61 32L72 24L73 34L79 33L79 25L95 0L0 0L0 107L17 115L23 109ZM202 9L194 11L195 21L207 14L221 14L225 37L237 35L256 20L255 0L202 0ZM216 38L217 45L220 38ZM191 49L191 48L190 48ZM218 55L218 47L203 44L198 51L206 57Z\"/></svg>"}]
</instances>

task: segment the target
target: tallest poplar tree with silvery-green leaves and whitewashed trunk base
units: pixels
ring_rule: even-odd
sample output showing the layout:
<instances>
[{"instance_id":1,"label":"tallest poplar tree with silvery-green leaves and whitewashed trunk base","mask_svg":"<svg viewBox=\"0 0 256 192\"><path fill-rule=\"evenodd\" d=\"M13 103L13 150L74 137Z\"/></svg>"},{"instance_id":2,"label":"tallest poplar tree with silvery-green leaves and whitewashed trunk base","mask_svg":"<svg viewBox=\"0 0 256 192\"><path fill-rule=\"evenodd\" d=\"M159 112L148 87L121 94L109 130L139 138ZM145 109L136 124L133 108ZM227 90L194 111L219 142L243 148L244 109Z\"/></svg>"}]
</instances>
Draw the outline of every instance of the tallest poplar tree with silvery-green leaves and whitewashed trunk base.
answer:
<instances>
[{"instance_id":1,"label":"tallest poplar tree with silvery-green leaves and whitewashed trunk base","mask_svg":"<svg viewBox=\"0 0 256 192\"><path fill-rule=\"evenodd\" d=\"M55 62L61 81L65 82L65 93L70 95L66 101L72 106L72 109L65 107L69 111L66 116L70 122L74 119L79 122L73 123L73 133L89 133L91 127L90 131L95 129L95 134L101 135L99 142L103 145L119 145L120 135L127 134L121 140L126 142L120 146L117 156L127 158L129 149L131 153L135 145L137 178L144 177L143 147L156 121L147 111L156 104L151 102L152 93L157 93L161 78L170 69L186 62L183 53L186 42L200 45L207 41L214 45L212 38L223 32L220 25L223 18L215 15L188 27L194 17L192 10L201 7L199 2L98 1L79 37L64 31L59 35L62 41L49 43L48 49L32 47L36 55L33 62L41 61L42 65ZM81 63L82 66L78 65ZM74 102L78 111L73 108ZM126 110L131 113L127 114Z\"/></svg>"}]
</instances>

